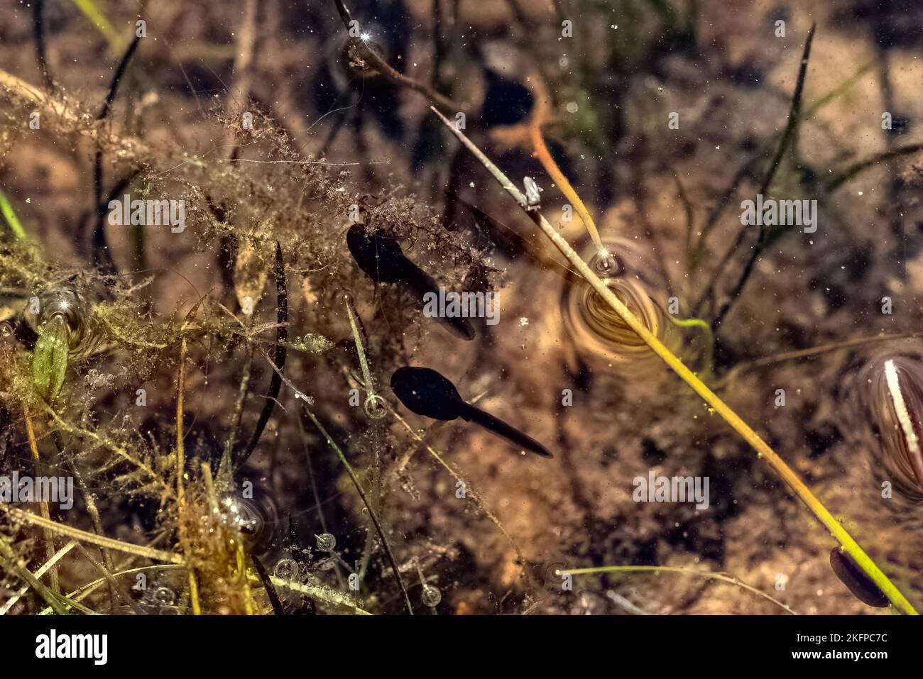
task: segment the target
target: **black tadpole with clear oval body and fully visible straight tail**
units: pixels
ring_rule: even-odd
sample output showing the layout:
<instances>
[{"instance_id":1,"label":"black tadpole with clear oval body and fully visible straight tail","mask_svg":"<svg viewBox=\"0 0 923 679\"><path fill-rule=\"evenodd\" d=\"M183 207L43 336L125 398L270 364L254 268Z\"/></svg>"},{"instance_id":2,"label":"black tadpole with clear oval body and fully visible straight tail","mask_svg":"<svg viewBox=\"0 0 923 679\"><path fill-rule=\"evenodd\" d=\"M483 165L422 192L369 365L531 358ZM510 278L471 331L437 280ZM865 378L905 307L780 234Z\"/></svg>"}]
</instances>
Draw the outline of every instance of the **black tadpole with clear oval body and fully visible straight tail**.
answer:
<instances>
[{"instance_id":1,"label":"black tadpole with clear oval body and fully visible straight tail","mask_svg":"<svg viewBox=\"0 0 923 679\"><path fill-rule=\"evenodd\" d=\"M450 380L430 368L405 366L391 375L391 390L404 406L417 415L434 420L454 420L480 424L487 431L502 436L519 447L541 455L554 457L547 448L519 429L467 403Z\"/></svg>"}]
</instances>

